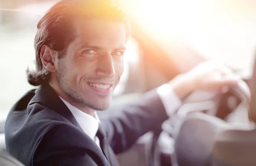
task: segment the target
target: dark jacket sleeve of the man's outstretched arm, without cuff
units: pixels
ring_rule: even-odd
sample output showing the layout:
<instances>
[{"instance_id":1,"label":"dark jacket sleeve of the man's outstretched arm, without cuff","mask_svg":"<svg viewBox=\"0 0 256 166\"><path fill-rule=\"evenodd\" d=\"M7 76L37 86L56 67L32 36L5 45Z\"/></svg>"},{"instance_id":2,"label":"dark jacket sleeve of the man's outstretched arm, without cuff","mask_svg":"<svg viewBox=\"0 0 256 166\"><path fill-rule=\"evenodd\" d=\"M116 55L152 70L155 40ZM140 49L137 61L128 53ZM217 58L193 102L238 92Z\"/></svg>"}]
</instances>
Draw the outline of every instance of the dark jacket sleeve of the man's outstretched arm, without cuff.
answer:
<instances>
[{"instance_id":1,"label":"dark jacket sleeve of the man's outstretched arm, without cuff","mask_svg":"<svg viewBox=\"0 0 256 166\"><path fill-rule=\"evenodd\" d=\"M115 153L128 149L141 135L160 129L168 119L156 90L151 90L140 100L119 108L119 114L101 118L110 145Z\"/></svg>"}]
</instances>

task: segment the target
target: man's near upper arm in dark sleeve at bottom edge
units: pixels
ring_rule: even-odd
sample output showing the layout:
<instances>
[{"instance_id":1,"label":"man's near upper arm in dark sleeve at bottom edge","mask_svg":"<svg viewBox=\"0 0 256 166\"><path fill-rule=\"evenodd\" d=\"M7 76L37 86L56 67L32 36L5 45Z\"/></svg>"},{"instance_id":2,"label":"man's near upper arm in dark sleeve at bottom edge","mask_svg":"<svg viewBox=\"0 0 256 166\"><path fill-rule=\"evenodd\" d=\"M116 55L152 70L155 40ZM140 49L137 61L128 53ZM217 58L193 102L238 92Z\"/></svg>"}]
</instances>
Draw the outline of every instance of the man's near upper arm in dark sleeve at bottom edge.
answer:
<instances>
[{"instance_id":1,"label":"man's near upper arm in dark sleeve at bottom edge","mask_svg":"<svg viewBox=\"0 0 256 166\"><path fill-rule=\"evenodd\" d=\"M57 124L38 143L33 166L109 166L101 150L76 127ZM102 155L100 155L102 154Z\"/></svg>"}]
</instances>

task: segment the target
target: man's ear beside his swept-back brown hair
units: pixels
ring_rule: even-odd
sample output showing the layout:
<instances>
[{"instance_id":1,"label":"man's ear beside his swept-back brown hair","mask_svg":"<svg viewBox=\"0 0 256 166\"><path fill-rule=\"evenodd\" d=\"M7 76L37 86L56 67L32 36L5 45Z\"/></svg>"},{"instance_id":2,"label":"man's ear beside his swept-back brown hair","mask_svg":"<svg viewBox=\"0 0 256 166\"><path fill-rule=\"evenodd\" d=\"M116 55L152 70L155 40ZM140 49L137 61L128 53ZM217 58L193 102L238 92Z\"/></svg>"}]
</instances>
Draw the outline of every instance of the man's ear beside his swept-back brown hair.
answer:
<instances>
[{"instance_id":1,"label":"man's ear beside his swept-back brown hair","mask_svg":"<svg viewBox=\"0 0 256 166\"><path fill-rule=\"evenodd\" d=\"M44 67L50 72L55 72L55 55L57 51L50 48L48 45L43 45L41 47L40 57Z\"/></svg>"}]
</instances>

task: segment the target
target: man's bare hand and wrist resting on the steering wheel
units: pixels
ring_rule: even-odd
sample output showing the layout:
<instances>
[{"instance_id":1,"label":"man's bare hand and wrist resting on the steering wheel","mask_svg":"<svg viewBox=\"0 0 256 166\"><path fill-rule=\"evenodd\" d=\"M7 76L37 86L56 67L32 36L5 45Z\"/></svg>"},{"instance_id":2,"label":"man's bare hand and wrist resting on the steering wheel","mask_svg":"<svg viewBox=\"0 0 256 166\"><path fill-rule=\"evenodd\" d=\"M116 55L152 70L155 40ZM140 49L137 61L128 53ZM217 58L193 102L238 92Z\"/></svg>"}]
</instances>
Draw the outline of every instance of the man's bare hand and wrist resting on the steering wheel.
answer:
<instances>
[{"instance_id":1,"label":"man's bare hand and wrist resting on the steering wheel","mask_svg":"<svg viewBox=\"0 0 256 166\"><path fill-rule=\"evenodd\" d=\"M203 62L187 73L180 74L170 84L176 95L183 99L194 90L226 93L230 87L237 86L240 76L217 62Z\"/></svg>"}]
</instances>

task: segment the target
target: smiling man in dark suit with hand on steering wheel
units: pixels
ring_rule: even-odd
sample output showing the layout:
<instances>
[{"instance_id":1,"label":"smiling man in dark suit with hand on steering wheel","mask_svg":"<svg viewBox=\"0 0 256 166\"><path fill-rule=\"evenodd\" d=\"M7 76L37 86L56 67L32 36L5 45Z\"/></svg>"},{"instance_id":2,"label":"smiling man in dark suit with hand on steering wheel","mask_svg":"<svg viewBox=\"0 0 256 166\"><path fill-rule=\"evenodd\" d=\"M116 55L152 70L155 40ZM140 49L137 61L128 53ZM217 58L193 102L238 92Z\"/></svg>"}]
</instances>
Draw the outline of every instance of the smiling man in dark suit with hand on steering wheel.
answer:
<instances>
[{"instance_id":1,"label":"smiling man in dark suit with hand on steering wheel","mask_svg":"<svg viewBox=\"0 0 256 166\"><path fill-rule=\"evenodd\" d=\"M62 0L38 23L36 72L40 85L12 107L7 151L26 166L117 166L114 153L158 128L193 90L236 86L239 77L215 63L199 65L99 120L123 73L129 35L125 15L108 0Z\"/></svg>"}]
</instances>

